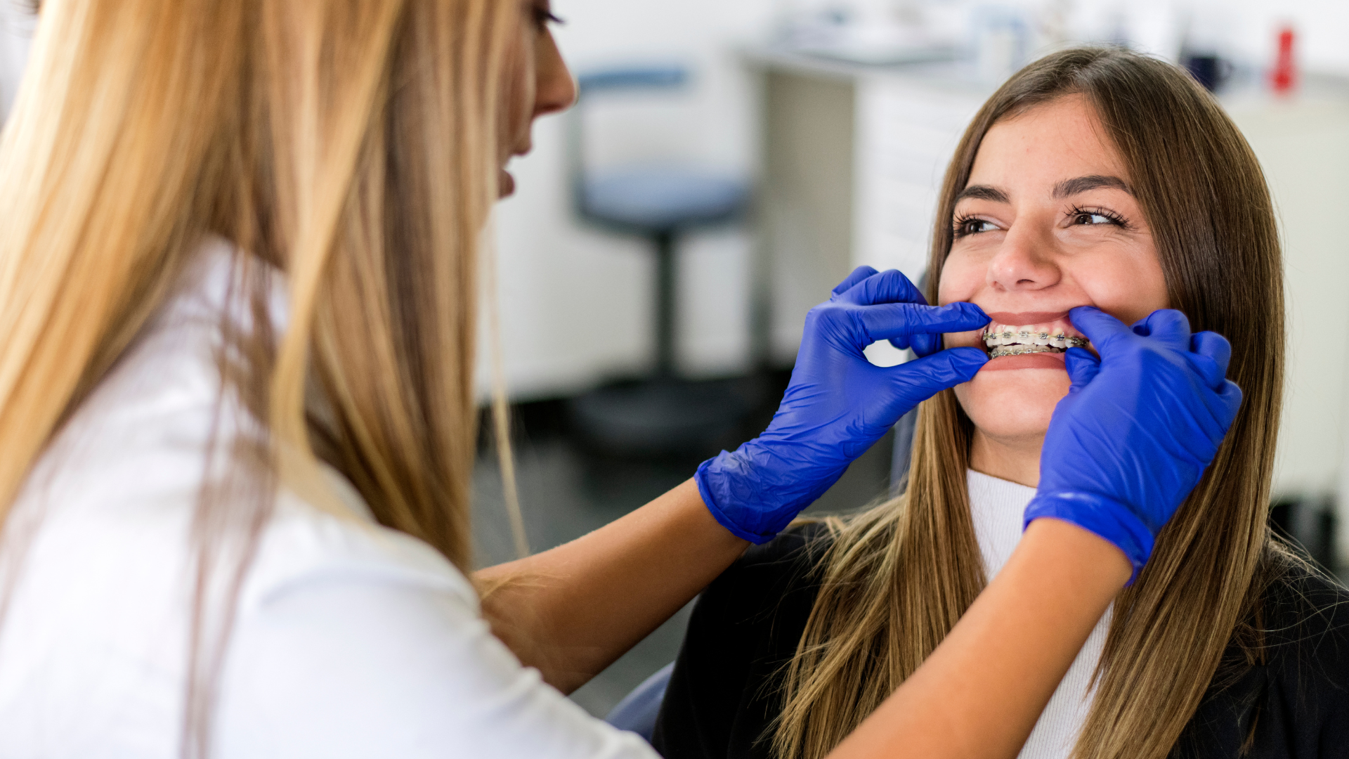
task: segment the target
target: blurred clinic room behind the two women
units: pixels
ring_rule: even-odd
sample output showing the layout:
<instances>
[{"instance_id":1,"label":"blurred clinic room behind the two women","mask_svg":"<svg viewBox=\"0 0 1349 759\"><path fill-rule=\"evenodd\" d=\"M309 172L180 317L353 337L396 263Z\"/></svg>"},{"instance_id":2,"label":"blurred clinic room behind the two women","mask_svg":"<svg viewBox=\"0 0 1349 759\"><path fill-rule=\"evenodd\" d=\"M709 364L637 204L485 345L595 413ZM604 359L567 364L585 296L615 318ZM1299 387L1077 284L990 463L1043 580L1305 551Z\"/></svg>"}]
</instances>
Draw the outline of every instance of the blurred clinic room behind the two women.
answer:
<instances>
[{"instance_id":1,"label":"blurred clinic room behind the two women","mask_svg":"<svg viewBox=\"0 0 1349 759\"><path fill-rule=\"evenodd\" d=\"M31 36L0 0L0 115ZM494 219L480 396L505 386L529 547L600 527L768 423L805 312L854 266L924 274L938 182L1010 73L1078 42L1180 63L1268 174L1288 288L1271 519L1349 565L1349 3L554 0L581 99L542 119ZM492 324L498 327L494 330ZM877 363L904 359L874 346ZM492 371L499 367L499 373ZM484 424L484 429L490 424ZM904 424L816 511L884 497ZM514 544L491 435L479 563ZM673 660L687 609L573 694L606 714Z\"/></svg>"}]
</instances>

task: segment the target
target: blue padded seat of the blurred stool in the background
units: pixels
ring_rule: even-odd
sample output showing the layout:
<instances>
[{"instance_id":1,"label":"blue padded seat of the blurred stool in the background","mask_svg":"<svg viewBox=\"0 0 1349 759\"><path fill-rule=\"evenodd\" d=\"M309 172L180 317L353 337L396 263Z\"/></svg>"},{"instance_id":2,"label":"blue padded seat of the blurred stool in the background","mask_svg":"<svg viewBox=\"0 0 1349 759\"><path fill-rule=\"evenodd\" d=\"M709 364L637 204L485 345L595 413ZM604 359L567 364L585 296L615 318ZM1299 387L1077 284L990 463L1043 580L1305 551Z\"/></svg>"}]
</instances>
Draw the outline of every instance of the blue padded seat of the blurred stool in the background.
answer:
<instances>
[{"instance_id":1,"label":"blue padded seat of the blurred stool in the background","mask_svg":"<svg viewBox=\"0 0 1349 759\"><path fill-rule=\"evenodd\" d=\"M684 167L598 173L583 181L581 212L596 221L642 231L715 224L745 209L741 180Z\"/></svg>"}]
</instances>

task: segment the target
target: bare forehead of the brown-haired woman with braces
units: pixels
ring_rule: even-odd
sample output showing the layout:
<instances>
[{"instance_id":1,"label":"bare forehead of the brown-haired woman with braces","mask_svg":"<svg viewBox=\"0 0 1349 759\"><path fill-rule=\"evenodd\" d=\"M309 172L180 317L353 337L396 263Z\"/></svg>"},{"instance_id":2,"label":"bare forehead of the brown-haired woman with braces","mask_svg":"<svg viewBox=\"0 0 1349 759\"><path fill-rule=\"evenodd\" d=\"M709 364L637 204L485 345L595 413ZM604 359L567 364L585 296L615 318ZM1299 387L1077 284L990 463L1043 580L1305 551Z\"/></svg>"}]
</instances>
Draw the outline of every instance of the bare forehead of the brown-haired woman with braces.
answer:
<instances>
[{"instance_id":1,"label":"bare forehead of the brown-haired woman with braces","mask_svg":"<svg viewBox=\"0 0 1349 759\"><path fill-rule=\"evenodd\" d=\"M969 184L1002 188L1014 201L1017 190L1039 194L1066 178L1093 174L1129 181L1095 108L1081 95L1066 95L989 128Z\"/></svg>"}]
</instances>

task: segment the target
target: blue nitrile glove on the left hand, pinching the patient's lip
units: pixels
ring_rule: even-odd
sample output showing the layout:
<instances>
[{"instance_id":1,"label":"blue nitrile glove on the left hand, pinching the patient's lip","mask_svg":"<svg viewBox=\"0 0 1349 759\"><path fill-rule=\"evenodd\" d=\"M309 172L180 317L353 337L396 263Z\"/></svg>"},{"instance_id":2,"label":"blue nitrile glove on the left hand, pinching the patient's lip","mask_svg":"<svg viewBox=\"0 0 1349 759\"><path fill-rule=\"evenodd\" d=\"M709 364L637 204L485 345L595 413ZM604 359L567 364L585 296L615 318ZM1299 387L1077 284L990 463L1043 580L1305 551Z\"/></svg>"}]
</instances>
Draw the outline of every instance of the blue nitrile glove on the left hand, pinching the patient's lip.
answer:
<instances>
[{"instance_id":1,"label":"blue nitrile glove on the left hand, pinching the patient's lip","mask_svg":"<svg viewBox=\"0 0 1349 759\"><path fill-rule=\"evenodd\" d=\"M900 416L974 377L987 361L982 350L934 351L942 332L987 323L974 304L928 307L898 271L857 269L805 316L792 382L768 429L697 467L703 502L735 535L772 540ZM886 339L932 355L890 367L867 362L862 348Z\"/></svg>"}]
</instances>

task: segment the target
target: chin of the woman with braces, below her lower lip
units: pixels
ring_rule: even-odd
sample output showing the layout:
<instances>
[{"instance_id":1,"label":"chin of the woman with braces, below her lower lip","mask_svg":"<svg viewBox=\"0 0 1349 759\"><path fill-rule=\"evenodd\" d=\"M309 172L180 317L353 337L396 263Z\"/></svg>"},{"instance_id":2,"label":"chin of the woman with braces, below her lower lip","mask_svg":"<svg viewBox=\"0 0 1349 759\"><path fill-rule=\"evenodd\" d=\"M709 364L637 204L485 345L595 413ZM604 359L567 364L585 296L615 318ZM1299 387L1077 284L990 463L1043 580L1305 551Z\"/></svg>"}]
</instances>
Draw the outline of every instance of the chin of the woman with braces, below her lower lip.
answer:
<instances>
[{"instance_id":1,"label":"chin of the woman with braces, below her lower lip","mask_svg":"<svg viewBox=\"0 0 1349 759\"><path fill-rule=\"evenodd\" d=\"M1068 375L1052 369L981 371L955 396L985 436L1031 444L1044 436L1054 408L1068 394Z\"/></svg>"}]
</instances>

